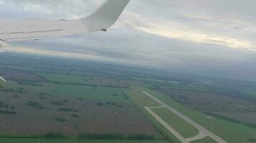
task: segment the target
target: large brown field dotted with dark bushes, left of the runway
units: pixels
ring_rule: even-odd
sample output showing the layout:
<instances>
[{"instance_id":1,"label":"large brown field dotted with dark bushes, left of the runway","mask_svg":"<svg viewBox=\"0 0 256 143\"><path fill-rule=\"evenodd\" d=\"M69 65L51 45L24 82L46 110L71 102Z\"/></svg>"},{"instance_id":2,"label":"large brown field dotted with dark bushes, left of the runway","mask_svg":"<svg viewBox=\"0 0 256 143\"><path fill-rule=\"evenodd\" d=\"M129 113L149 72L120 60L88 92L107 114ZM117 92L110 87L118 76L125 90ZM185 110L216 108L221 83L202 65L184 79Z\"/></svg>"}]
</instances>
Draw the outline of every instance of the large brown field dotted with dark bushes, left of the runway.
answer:
<instances>
[{"instance_id":1,"label":"large brown field dotted with dark bushes, left of the runway","mask_svg":"<svg viewBox=\"0 0 256 143\"><path fill-rule=\"evenodd\" d=\"M148 134L161 137L155 127L130 104L111 105L96 100L29 94L14 97L12 92L0 92L0 95L0 102L4 103L0 110L17 112L0 114L0 134L62 132L67 137L77 137L80 133ZM38 103L37 107L42 109L27 106L29 101ZM60 111L60 108L73 111ZM78 117L73 117L74 114Z\"/></svg>"}]
</instances>

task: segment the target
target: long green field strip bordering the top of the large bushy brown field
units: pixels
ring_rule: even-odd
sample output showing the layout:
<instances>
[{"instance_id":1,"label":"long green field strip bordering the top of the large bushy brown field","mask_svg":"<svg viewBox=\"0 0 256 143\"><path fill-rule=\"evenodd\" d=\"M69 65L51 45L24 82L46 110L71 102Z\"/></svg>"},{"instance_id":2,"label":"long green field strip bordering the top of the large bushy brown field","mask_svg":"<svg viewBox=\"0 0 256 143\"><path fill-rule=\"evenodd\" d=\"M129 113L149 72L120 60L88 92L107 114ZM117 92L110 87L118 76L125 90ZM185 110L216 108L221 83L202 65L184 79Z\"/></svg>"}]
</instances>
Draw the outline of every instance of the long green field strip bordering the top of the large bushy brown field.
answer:
<instances>
[{"instance_id":1,"label":"long green field strip bordering the top of the large bushy brown field","mask_svg":"<svg viewBox=\"0 0 256 143\"><path fill-rule=\"evenodd\" d=\"M124 102L129 103L130 100L124 97L124 92L129 89L117 87L91 87L85 85L73 84L52 84L52 83L39 83L41 86L17 84L17 82L9 81L6 89L19 89L22 88L28 94L64 97L76 97L83 99L103 100L110 102Z\"/></svg>"}]
</instances>

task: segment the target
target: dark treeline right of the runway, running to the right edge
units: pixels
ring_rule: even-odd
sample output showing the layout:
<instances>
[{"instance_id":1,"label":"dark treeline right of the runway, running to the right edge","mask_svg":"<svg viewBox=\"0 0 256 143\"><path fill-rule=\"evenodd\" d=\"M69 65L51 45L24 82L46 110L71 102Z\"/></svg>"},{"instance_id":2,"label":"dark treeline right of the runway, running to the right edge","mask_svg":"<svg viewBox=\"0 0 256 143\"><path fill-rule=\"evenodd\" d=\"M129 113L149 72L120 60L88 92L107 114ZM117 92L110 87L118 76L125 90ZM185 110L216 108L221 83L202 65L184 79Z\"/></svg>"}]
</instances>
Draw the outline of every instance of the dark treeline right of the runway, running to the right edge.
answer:
<instances>
[{"instance_id":1,"label":"dark treeline right of the runway, running to the right edge","mask_svg":"<svg viewBox=\"0 0 256 143\"><path fill-rule=\"evenodd\" d=\"M214 114L212 112L204 112L204 114L207 114L209 116L212 116L212 117L216 117L216 118L219 118L219 119L225 119L229 122L234 122L234 123L237 123L237 124L244 124L245 126L247 127L252 127L252 128L255 128L256 129L256 124L253 124L253 123L249 123L249 122L242 122L240 121L239 119L232 119L232 118L229 118L229 117L224 117L222 115L219 115L219 114Z\"/></svg>"}]
</instances>

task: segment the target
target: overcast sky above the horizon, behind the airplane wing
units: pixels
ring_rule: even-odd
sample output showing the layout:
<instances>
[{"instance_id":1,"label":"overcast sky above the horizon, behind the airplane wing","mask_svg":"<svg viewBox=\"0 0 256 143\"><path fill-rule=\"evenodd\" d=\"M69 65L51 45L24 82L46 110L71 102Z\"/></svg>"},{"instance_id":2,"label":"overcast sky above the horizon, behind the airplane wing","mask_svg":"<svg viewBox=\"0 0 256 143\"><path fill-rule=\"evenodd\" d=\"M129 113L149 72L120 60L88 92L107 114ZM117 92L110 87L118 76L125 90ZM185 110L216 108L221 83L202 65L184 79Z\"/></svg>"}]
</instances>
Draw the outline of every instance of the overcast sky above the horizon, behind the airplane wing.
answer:
<instances>
[{"instance_id":1,"label":"overcast sky above the horizon, behind the airplane wing","mask_svg":"<svg viewBox=\"0 0 256 143\"><path fill-rule=\"evenodd\" d=\"M0 0L0 17L78 19L102 1ZM7 51L250 79L256 73L255 6L255 0L131 0L107 32L16 42Z\"/></svg>"}]
</instances>

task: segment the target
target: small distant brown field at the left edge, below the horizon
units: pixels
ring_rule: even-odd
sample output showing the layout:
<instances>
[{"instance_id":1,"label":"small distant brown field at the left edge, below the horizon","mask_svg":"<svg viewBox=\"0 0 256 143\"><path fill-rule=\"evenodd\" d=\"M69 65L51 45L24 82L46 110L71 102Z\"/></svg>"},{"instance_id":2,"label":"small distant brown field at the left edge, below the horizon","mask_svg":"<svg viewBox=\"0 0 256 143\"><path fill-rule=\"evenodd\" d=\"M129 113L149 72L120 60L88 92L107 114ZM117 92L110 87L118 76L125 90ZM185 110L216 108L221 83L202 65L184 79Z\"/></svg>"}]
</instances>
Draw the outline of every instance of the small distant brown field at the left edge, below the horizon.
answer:
<instances>
[{"instance_id":1,"label":"small distant brown field at the left edge, below the horizon","mask_svg":"<svg viewBox=\"0 0 256 143\"><path fill-rule=\"evenodd\" d=\"M0 74L5 79L12 79L12 80L27 80L27 81L37 81L37 82L44 82L45 79L38 77L36 74L30 71L18 71L18 70L7 70L7 69L0 69Z\"/></svg>"}]
</instances>

